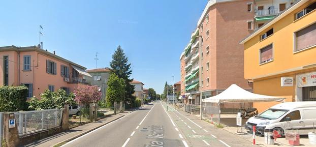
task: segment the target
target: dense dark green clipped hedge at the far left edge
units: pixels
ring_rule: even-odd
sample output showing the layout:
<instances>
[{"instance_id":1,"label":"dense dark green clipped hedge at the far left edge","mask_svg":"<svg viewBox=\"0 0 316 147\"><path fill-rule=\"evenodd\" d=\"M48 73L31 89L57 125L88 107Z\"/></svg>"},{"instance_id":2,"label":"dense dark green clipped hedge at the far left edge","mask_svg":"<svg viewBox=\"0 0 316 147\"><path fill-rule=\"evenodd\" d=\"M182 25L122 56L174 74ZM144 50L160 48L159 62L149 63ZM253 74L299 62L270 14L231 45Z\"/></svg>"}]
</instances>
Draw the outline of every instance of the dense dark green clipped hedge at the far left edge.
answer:
<instances>
[{"instance_id":1,"label":"dense dark green clipped hedge at the far left edge","mask_svg":"<svg viewBox=\"0 0 316 147\"><path fill-rule=\"evenodd\" d=\"M0 87L0 111L23 110L28 89L26 86Z\"/></svg>"}]
</instances>

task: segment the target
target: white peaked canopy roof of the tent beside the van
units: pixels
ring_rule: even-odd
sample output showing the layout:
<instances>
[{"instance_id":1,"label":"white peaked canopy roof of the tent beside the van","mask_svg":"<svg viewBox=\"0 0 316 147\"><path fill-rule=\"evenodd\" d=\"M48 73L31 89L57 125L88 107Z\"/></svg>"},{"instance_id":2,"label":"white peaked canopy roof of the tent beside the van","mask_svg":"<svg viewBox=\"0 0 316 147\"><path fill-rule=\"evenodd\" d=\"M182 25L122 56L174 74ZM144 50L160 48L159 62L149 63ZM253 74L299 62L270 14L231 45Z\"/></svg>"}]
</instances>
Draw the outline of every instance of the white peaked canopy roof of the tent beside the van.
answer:
<instances>
[{"instance_id":1,"label":"white peaked canopy roof of the tent beside the van","mask_svg":"<svg viewBox=\"0 0 316 147\"><path fill-rule=\"evenodd\" d=\"M250 93L236 84L232 84L228 87L224 92L203 99L202 102L210 102L210 103L248 103L248 102L280 102L283 101L285 98L280 97L273 97L273 96L266 96L266 95L259 95Z\"/></svg>"}]
</instances>

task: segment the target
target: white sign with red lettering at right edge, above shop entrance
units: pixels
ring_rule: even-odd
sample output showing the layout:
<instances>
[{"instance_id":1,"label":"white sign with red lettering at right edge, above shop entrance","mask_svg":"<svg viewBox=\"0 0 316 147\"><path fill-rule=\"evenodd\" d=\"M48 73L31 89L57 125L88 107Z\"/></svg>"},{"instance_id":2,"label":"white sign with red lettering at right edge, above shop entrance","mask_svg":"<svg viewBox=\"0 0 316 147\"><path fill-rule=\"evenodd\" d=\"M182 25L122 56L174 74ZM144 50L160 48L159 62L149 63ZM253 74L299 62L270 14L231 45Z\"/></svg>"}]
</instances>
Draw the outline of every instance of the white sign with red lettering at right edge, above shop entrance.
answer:
<instances>
[{"instance_id":1,"label":"white sign with red lettering at right edge, above shop entrance","mask_svg":"<svg viewBox=\"0 0 316 147\"><path fill-rule=\"evenodd\" d=\"M316 72L297 75L299 87L316 86Z\"/></svg>"}]
</instances>

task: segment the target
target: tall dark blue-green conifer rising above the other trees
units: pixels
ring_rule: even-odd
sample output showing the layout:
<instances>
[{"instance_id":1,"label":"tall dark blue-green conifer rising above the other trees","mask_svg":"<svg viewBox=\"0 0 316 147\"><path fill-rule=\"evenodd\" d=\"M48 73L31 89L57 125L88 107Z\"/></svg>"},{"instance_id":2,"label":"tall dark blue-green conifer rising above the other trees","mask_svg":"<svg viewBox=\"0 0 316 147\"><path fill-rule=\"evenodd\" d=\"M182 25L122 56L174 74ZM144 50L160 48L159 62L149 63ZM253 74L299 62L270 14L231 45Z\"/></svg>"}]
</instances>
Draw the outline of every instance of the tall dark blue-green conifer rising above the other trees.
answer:
<instances>
[{"instance_id":1,"label":"tall dark blue-green conifer rising above the other trees","mask_svg":"<svg viewBox=\"0 0 316 147\"><path fill-rule=\"evenodd\" d=\"M112 55L112 61L110 62L111 73L114 73L118 78L122 78L125 81L125 101L135 102L136 97L133 96L135 93L135 86L131 85L130 82L133 79L130 79L132 74L131 64L128 63L128 57L125 56L125 53L121 46L119 45L114 54Z\"/></svg>"}]
</instances>

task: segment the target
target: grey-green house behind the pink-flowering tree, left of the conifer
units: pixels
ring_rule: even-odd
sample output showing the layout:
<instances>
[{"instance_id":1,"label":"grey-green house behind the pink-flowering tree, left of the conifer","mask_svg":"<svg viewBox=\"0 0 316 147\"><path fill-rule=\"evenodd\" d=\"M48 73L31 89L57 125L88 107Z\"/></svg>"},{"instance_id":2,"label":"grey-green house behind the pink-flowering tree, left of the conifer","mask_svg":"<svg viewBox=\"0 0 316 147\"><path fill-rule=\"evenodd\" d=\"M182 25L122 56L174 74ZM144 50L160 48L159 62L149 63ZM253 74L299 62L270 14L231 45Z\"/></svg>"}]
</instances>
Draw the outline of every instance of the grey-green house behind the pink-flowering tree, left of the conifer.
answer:
<instances>
[{"instance_id":1,"label":"grey-green house behind the pink-flowering tree, left of the conifer","mask_svg":"<svg viewBox=\"0 0 316 147\"><path fill-rule=\"evenodd\" d=\"M92 77L87 77L87 81L92 85L96 85L99 87L99 91L102 93L102 98L105 100L106 90L108 88L108 79L110 77L110 69L108 68L99 68L99 69L91 69L87 70L87 72Z\"/></svg>"}]
</instances>

